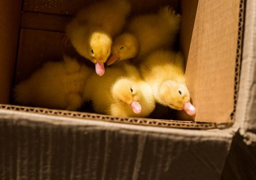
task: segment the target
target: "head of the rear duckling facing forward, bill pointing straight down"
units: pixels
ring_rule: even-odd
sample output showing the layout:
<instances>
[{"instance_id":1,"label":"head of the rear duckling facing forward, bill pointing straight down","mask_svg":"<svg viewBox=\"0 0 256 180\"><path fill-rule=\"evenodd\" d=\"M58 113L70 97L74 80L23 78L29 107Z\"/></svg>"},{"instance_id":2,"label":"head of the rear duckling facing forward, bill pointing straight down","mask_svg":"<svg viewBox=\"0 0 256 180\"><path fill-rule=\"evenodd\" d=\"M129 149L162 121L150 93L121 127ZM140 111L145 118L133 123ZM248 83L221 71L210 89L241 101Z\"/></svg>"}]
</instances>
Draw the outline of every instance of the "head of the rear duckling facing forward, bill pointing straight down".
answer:
<instances>
[{"instance_id":1,"label":"head of the rear duckling facing forward, bill pointing straight down","mask_svg":"<svg viewBox=\"0 0 256 180\"><path fill-rule=\"evenodd\" d=\"M88 53L99 76L105 73L104 63L111 53L111 45L112 40L106 33L93 32L90 36Z\"/></svg>"}]
</instances>

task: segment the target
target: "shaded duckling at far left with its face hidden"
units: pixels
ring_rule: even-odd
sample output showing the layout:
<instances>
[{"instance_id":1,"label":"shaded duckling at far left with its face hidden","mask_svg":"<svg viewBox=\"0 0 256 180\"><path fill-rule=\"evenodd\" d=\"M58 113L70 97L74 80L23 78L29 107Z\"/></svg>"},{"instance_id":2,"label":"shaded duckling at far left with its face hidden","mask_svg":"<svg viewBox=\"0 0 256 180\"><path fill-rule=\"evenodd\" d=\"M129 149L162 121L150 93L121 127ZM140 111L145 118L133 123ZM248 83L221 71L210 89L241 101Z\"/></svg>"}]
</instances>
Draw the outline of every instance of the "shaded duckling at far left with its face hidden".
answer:
<instances>
[{"instance_id":1,"label":"shaded duckling at far left with its face hidden","mask_svg":"<svg viewBox=\"0 0 256 180\"><path fill-rule=\"evenodd\" d=\"M14 99L24 105L76 111L83 103L86 79L92 69L75 59L47 62L14 88Z\"/></svg>"}]
</instances>

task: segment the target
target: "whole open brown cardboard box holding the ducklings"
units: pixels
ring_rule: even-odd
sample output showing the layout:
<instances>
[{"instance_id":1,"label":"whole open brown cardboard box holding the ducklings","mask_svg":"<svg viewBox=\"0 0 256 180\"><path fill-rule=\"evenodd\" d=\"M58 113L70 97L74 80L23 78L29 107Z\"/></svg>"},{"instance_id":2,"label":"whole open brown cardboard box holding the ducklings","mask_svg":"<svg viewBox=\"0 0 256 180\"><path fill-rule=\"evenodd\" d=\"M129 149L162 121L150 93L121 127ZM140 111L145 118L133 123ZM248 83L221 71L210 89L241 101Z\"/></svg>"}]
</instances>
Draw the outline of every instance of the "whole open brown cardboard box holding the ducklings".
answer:
<instances>
[{"instance_id":1,"label":"whole open brown cardboard box holding the ducklings","mask_svg":"<svg viewBox=\"0 0 256 180\"><path fill-rule=\"evenodd\" d=\"M180 48L196 123L10 105L14 77L18 83L45 60L59 60L65 24L91 2L0 2L0 177L220 178L234 133L256 141L255 3L131 1L133 14L158 5L182 14Z\"/></svg>"}]
</instances>

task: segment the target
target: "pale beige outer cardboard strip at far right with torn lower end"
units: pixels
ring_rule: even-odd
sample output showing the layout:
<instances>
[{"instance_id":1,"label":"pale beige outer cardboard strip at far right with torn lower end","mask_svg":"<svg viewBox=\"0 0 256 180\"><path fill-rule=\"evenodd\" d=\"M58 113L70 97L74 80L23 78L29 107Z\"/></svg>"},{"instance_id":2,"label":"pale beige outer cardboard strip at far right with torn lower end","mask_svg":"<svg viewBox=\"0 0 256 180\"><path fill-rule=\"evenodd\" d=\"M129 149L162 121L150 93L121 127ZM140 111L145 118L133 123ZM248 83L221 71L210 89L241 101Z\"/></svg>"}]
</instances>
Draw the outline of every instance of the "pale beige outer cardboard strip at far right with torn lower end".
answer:
<instances>
[{"instance_id":1,"label":"pale beige outer cardboard strip at far right with torn lower end","mask_svg":"<svg viewBox=\"0 0 256 180\"><path fill-rule=\"evenodd\" d=\"M243 62L234 126L247 144L256 142L256 2L247 0Z\"/></svg>"}]
</instances>

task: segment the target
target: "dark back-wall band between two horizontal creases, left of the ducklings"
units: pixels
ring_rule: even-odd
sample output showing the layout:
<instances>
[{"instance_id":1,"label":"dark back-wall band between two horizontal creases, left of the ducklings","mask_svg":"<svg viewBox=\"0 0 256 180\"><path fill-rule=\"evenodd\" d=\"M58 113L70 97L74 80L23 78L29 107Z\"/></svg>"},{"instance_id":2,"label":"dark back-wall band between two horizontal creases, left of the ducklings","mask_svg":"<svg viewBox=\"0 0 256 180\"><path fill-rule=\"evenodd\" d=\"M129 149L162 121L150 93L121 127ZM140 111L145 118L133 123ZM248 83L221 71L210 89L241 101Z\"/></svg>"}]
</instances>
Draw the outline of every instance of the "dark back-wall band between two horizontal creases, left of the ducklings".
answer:
<instances>
[{"instance_id":1,"label":"dark back-wall band between two horizontal creases, left of the ducklings","mask_svg":"<svg viewBox=\"0 0 256 180\"><path fill-rule=\"evenodd\" d=\"M26 12L21 14L21 28L65 32L69 16Z\"/></svg>"}]
</instances>

